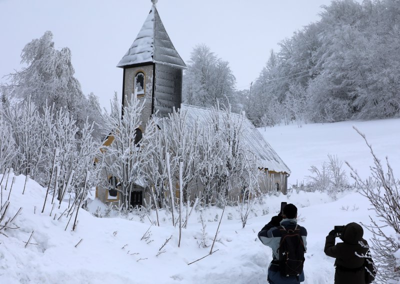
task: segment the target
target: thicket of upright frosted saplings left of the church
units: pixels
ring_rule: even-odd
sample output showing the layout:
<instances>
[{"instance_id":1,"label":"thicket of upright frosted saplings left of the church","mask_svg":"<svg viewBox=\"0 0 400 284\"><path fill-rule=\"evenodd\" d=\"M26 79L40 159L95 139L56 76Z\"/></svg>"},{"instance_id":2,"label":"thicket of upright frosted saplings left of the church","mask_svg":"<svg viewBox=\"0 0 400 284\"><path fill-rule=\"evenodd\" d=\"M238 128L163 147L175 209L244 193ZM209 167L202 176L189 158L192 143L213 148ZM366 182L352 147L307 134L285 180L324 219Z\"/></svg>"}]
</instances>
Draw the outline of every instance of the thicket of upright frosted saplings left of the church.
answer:
<instances>
[{"instance_id":1,"label":"thicket of upright frosted saplings left of the church","mask_svg":"<svg viewBox=\"0 0 400 284\"><path fill-rule=\"evenodd\" d=\"M2 116L9 129L9 147L14 148L15 158L9 162L15 172L50 186L54 194L79 190L85 170L91 172L88 185L96 182L93 160L99 144L93 140L93 123L79 128L66 109L55 110L54 105L39 112L30 97L22 108L15 103L6 107ZM54 157L55 149L58 154Z\"/></svg>"}]
</instances>

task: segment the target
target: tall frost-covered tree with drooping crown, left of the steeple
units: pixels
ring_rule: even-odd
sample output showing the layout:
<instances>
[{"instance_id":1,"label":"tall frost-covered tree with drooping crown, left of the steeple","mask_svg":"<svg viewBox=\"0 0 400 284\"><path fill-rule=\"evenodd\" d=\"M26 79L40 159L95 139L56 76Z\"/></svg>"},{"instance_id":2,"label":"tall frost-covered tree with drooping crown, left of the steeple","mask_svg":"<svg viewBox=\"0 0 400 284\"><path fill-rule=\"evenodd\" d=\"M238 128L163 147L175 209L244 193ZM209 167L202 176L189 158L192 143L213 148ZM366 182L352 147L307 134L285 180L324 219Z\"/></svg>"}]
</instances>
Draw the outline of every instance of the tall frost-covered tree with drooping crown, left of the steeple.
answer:
<instances>
[{"instance_id":1,"label":"tall frost-covered tree with drooping crown, left of the steeple","mask_svg":"<svg viewBox=\"0 0 400 284\"><path fill-rule=\"evenodd\" d=\"M21 63L27 66L7 75L9 82L1 85L2 97L19 104L30 97L37 106L54 105L55 110L65 108L79 127L87 117L89 123L101 124L100 108L94 95L87 98L73 76L71 51L67 47L55 49L52 37L51 31L46 31L24 46Z\"/></svg>"}]
</instances>

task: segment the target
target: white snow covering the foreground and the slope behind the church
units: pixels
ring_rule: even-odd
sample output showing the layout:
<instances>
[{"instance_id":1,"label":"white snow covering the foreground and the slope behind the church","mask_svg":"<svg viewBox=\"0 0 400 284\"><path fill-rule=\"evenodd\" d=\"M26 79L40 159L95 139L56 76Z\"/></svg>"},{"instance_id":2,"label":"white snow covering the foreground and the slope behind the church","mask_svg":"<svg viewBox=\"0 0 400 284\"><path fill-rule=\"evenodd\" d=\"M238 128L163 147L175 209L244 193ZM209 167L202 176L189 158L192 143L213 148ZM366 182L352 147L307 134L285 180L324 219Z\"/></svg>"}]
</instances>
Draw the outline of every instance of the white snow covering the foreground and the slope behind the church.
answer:
<instances>
[{"instance_id":1,"label":"white snow covering the foreground and the slope behind the church","mask_svg":"<svg viewBox=\"0 0 400 284\"><path fill-rule=\"evenodd\" d=\"M279 126L266 128L265 137L292 170L291 183L303 180L309 166L325 161L327 153L337 154L367 176L372 160L352 124L367 135L379 157L389 156L398 173L400 119L306 124L301 128ZM8 197L12 175L6 188L5 179L1 183L2 204ZM19 207L22 210L14 222L19 228L6 230L7 236L0 234L0 283L265 283L271 250L256 235L278 211L280 201L297 205L299 223L308 231L304 283L332 283L333 259L323 253L325 235L333 225L368 223L368 214L373 213L368 210L368 201L357 192L345 192L336 200L321 192L270 196L254 205L245 228L241 227L236 208L226 208L213 248L217 251L188 265L210 250L210 246L199 247L200 211L192 214L187 229L182 230L180 247L178 229L170 224L170 215L165 212L160 212L158 227L150 223L155 213L140 221L138 216L132 220L97 218L80 210L77 227L72 231L74 215L68 226L65 215L59 218L67 202L61 202L60 208L54 206L50 216L52 206L47 199L41 213L45 189L29 180L22 195L24 181L24 176L17 176L9 194L7 217ZM206 242L210 245L221 209L207 208L202 215L207 221ZM142 239L143 235L147 237ZM170 236L161 249L165 252L156 256ZM364 237L370 236L364 230Z\"/></svg>"}]
</instances>

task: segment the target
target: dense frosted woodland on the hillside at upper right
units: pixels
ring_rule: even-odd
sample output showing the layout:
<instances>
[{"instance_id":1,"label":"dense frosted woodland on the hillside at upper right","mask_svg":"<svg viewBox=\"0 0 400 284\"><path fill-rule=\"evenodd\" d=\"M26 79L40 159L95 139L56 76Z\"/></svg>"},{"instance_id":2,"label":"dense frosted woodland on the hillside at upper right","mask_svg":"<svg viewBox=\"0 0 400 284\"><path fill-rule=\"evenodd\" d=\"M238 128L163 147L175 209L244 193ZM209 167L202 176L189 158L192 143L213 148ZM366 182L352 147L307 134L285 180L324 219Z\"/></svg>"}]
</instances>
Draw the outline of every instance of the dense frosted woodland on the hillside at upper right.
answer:
<instances>
[{"instance_id":1,"label":"dense frosted woodland on the hillside at upper right","mask_svg":"<svg viewBox=\"0 0 400 284\"><path fill-rule=\"evenodd\" d=\"M302 113L313 122L400 115L399 14L400 2L393 0L322 6L318 22L293 32L270 54L245 104L248 117L262 126L279 114L271 112L271 101L292 105L286 94L293 85L304 89ZM283 110L286 119L292 111Z\"/></svg>"}]
</instances>

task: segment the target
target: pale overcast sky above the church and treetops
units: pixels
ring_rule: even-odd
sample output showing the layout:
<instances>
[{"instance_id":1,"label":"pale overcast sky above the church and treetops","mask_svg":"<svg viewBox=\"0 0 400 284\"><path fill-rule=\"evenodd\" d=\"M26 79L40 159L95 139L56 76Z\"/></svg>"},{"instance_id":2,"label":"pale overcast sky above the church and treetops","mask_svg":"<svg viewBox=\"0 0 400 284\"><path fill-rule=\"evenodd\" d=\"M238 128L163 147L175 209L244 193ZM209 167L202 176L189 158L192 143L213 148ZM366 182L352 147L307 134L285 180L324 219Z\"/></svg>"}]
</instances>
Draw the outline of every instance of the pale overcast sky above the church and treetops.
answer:
<instances>
[{"instance_id":1,"label":"pale overcast sky above the church and treetops","mask_svg":"<svg viewBox=\"0 0 400 284\"><path fill-rule=\"evenodd\" d=\"M270 49L293 31L319 20L330 0L159 0L157 10L176 50L188 62L205 43L230 63L238 89L259 74ZM69 47L75 77L85 94L108 108L121 94L115 67L135 39L150 0L0 0L0 81L19 70L23 46L46 30L56 48Z\"/></svg>"}]
</instances>

